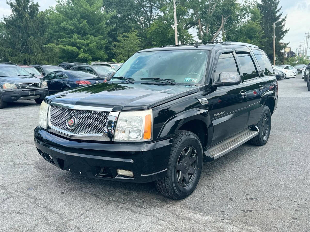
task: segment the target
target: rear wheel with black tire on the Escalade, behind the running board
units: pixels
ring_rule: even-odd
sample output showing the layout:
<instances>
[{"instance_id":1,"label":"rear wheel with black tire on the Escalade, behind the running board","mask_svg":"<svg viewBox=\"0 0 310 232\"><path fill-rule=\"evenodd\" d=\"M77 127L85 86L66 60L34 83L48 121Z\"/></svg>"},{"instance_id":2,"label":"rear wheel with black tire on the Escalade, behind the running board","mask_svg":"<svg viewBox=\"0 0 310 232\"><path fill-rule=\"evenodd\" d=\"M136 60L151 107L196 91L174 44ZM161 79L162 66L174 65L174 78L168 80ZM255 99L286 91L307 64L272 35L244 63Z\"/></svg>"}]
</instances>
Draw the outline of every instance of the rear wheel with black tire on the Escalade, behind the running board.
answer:
<instances>
[{"instance_id":1,"label":"rear wheel with black tire on the Escalade, behind the running board","mask_svg":"<svg viewBox=\"0 0 310 232\"><path fill-rule=\"evenodd\" d=\"M267 122L266 122L267 118ZM265 121L265 122L264 122ZM259 118L259 122L256 124L259 128L259 134L249 140L249 143L256 146L263 146L268 142L270 130L271 130L271 113L267 105L263 106L262 113ZM266 126L268 128L266 128ZM267 132L266 132L267 129Z\"/></svg>"}]
</instances>

